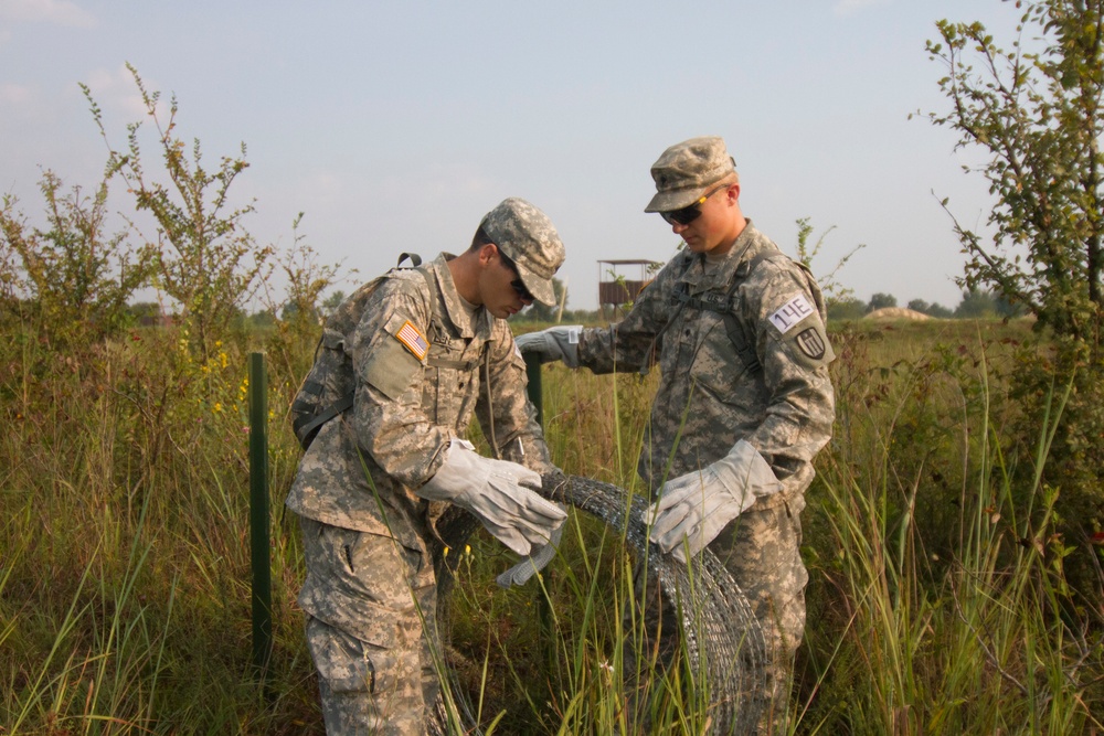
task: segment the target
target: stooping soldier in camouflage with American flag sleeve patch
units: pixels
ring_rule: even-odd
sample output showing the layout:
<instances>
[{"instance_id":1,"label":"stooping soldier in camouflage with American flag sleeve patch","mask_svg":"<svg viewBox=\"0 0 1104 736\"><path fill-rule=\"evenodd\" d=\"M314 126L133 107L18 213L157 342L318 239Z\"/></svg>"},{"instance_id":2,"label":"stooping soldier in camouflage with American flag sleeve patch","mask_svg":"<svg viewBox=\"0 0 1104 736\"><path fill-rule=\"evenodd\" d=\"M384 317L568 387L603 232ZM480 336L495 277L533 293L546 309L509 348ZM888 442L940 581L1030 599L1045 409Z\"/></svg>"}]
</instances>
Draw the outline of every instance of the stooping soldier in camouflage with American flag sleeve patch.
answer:
<instances>
[{"instance_id":1,"label":"stooping soldier in camouflage with American flag sleeve patch","mask_svg":"<svg viewBox=\"0 0 1104 736\"><path fill-rule=\"evenodd\" d=\"M556 537L566 514L538 493L555 469L505 318L553 303L563 259L544 213L511 198L465 253L392 270L350 297L346 332L327 326L353 404L310 441L287 506L301 522L298 602L329 734L425 733L439 692L433 551L446 504L520 555ZM474 414L493 459L464 439ZM532 569L522 561L507 577Z\"/></svg>"}]
</instances>

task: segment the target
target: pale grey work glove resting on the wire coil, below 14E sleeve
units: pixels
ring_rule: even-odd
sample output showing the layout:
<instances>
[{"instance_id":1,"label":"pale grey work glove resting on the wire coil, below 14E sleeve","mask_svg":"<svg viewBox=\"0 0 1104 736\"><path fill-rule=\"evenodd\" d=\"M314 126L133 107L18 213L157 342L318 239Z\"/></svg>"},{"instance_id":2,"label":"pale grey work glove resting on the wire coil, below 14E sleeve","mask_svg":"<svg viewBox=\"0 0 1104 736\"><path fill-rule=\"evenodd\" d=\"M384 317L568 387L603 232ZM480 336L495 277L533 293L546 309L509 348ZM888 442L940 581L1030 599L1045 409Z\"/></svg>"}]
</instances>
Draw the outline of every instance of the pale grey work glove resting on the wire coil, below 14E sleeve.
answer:
<instances>
[{"instance_id":1,"label":"pale grey work glove resting on the wire coil, below 14E sleeve","mask_svg":"<svg viewBox=\"0 0 1104 736\"><path fill-rule=\"evenodd\" d=\"M741 439L716 462L664 483L646 516L648 538L684 563L687 550L698 554L756 499L781 490L763 456Z\"/></svg>"}]
</instances>

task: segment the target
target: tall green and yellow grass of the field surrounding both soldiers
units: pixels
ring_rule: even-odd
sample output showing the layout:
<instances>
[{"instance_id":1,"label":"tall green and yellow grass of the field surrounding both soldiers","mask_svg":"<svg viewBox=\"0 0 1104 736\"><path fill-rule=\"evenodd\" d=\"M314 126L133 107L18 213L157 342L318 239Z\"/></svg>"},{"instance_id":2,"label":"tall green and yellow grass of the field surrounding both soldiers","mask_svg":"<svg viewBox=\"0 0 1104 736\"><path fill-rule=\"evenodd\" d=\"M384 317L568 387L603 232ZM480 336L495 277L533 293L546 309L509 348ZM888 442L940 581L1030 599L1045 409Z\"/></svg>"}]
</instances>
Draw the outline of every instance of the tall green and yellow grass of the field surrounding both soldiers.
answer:
<instances>
[{"instance_id":1,"label":"tall green and yellow grass of the field surrounding both soldiers","mask_svg":"<svg viewBox=\"0 0 1104 736\"><path fill-rule=\"evenodd\" d=\"M839 417L817 461L803 550L799 734L1078 734L1101 729L1100 591L1070 589L1061 489L1020 483L1047 462L1005 435L1015 366L984 332L890 326L834 335ZM958 326L954 326L958 329ZM283 407L309 339L227 335L190 358L171 330L79 354L25 326L0 345L0 733L321 733L295 596L297 524L283 512L298 450ZM275 651L252 666L246 353L269 352ZM550 366L544 414L566 472L638 491L655 376ZM1030 473L1028 473L1030 476ZM538 580L499 590L513 558L485 533L460 555L452 673L497 734L631 728L624 648L631 559L573 514ZM651 672L644 658L640 672ZM657 680L652 718L701 733L708 683Z\"/></svg>"}]
</instances>

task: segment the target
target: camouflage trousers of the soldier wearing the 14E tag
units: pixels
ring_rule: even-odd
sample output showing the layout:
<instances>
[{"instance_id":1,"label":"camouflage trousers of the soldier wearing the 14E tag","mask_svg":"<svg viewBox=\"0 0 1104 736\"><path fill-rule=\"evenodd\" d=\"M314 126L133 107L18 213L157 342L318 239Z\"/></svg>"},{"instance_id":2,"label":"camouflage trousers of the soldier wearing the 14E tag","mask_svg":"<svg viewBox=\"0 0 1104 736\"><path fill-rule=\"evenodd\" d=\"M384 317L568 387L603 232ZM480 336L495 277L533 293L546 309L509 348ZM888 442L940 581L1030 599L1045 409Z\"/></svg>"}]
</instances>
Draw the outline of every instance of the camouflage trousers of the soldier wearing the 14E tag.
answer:
<instances>
[{"instance_id":1,"label":"camouflage trousers of the soldier wearing the 14E tag","mask_svg":"<svg viewBox=\"0 0 1104 736\"><path fill-rule=\"evenodd\" d=\"M765 692L756 694L763 706L755 730L760 735L785 734L789 728L790 680L794 655L805 636L805 586L809 579L800 556L804 509L804 495L771 499L737 516L709 545L743 590L763 630L767 652ZM679 617L673 601L660 596L658 584L646 582L646 575L639 566L636 586L638 599L645 601L644 650L650 650L666 665L678 650L677 637L667 634L679 631ZM641 674L631 652L624 666L629 680ZM647 733L647 717L640 718Z\"/></svg>"}]
</instances>

